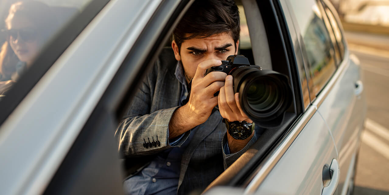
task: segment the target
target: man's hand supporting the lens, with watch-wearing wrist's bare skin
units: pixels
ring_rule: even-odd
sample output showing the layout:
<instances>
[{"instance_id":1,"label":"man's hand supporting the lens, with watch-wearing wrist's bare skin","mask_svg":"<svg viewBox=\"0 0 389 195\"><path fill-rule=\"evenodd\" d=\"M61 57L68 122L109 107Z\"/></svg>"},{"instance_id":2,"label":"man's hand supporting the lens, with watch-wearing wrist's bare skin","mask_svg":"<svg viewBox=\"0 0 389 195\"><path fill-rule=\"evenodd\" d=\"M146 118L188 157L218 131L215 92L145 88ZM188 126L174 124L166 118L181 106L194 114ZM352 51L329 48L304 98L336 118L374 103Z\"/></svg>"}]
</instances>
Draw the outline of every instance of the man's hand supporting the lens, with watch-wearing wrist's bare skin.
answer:
<instances>
[{"instance_id":1,"label":"man's hand supporting the lens, with watch-wearing wrist's bare skin","mask_svg":"<svg viewBox=\"0 0 389 195\"><path fill-rule=\"evenodd\" d=\"M246 121L252 123L252 120L247 117L239 104L239 93L234 94L233 89L233 80L232 76L228 75L226 77L226 82L224 86L221 87L218 97L219 111L223 118L228 119L229 121ZM227 133L228 146L231 153L235 153L239 150L242 150L244 146L249 143L252 136L254 136L254 131L251 136L244 139L234 139L229 133Z\"/></svg>"}]
</instances>

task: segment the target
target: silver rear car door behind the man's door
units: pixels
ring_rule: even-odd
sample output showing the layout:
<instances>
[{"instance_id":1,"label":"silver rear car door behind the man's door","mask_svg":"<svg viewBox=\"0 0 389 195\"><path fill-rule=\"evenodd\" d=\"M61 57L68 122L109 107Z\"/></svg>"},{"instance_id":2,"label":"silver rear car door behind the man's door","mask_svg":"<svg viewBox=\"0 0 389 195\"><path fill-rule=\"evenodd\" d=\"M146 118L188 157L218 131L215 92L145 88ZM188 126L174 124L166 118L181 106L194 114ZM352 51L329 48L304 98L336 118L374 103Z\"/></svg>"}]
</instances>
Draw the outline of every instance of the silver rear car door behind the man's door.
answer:
<instances>
[{"instance_id":1,"label":"silver rear car door behind the man's door","mask_svg":"<svg viewBox=\"0 0 389 195\"><path fill-rule=\"evenodd\" d=\"M325 3L326 2L326 3ZM323 98L318 96L314 105L328 124L339 151L340 181L338 191L344 195L354 174L356 153L366 115L366 100L359 61L345 43L344 33L335 9L328 1L322 2L322 12L329 33L335 39L335 54L338 54L338 79ZM319 4L320 5L320 4Z\"/></svg>"}]
</instances>

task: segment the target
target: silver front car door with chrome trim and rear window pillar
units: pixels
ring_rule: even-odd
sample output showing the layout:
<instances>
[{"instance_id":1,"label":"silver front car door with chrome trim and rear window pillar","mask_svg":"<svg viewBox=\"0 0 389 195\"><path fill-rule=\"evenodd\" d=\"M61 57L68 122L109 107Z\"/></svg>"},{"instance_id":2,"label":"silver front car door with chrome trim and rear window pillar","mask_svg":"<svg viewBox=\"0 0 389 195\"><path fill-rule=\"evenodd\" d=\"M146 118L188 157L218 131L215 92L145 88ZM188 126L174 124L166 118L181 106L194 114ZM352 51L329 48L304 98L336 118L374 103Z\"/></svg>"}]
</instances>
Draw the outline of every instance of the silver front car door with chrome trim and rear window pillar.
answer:
<instances>
[{"instance_id":1,"label":"silver front car door with chrome trim and rear window pillar","mask_svg":"<svg viewBox=\"0 0 389 195\"><path fill-rule=\"evenodd\" d=\"M285 27L283 37L291 45L293 59L299 70L299 82L303 100L309 93L306 78L305 60L300 41L303 37L296 33L293 12L289 11L286 1L273 2L274 14L281 16L279 22ZM298 6L301 6L300 2ZM310 9L312 11L312 9ZM280 25L281 26L281 25ZM281 27L282 28L282 27ZM307 97L307 98L304 98ZM307 102L307 101L304 101ZM328 194L335 192L338 169L337 153L326 122L309 103L304 104L305 111L295 122L293 128L281 143L258 168L258 173L247 185L245 192L254 194ZM323 179L323 173L333 168L330 181ZM328 179L328 178L327 178ZM323 182L324 180L324 182Z\"/></svg>"}]
</instances>

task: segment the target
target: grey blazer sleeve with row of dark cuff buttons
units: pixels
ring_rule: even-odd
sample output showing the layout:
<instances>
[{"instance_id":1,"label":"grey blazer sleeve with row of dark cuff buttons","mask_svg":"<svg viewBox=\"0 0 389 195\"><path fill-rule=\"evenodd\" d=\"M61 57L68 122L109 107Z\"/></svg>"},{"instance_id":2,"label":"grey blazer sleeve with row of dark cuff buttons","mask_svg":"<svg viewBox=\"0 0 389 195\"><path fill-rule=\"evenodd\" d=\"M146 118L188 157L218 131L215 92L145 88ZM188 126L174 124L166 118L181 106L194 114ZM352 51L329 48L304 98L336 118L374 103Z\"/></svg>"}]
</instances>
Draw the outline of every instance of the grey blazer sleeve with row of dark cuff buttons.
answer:
<instances>
[{"instance_id":1,"label":"grey blazer sleeve with row of dark cuff buttons","mask_svg":"<svg viewBox=\"0 0 389 195\"><path fill-rule=\"evenodd\" d=\"M177 143L170 145L168 139L169 122L173 112L179 106L150 113L155 83L161 80L158 76L164 75L160 71L163 70L158 68L158 70L152 71L142 81L127 115L120 121L115 132L115 138L119 143L118 150L124 154L124 157L152 155L168 148L178 147L189 136L190 131L187 131ZM157 140L160 142L159 146L144 147L144 143Z\"/></svg>"}]
</instances>

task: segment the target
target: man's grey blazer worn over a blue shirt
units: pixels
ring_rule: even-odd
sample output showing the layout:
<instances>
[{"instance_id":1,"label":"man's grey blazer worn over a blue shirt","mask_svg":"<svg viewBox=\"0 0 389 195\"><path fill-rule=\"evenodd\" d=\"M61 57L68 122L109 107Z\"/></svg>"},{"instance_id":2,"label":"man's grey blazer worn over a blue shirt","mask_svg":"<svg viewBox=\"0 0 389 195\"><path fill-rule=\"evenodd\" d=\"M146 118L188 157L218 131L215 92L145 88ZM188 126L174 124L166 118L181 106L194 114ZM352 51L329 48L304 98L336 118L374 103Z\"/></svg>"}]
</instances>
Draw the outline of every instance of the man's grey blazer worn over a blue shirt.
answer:
<instances>
[{"instance_id":1,"label":"man's grey blazer worn over a blue shirt","mask_svg":"<svg viewBox=\"0 0 389 195\"><path fill-rule=\"evenodd\" d=\"M179 108L182 85L175 78L174 58L171 48L165 48L154 64L152 71L141 81L127 115L121 120L115 133L119 152L131 162L145 163L152 155L172 148L169 145L169 122ZM186 141L191 132L174 147ZM160 141L160 146L145 148L144 139ZM226 155L226 127L218 110L196 129L195 135L182 155L178 194L204 190L214 179L229 167L256 141L256 136L237 153ZM151 157L151 158L150 158ZM146 159L146 160L144 160Z\"/></svg>"}]
</instances>

